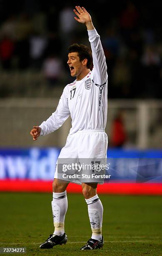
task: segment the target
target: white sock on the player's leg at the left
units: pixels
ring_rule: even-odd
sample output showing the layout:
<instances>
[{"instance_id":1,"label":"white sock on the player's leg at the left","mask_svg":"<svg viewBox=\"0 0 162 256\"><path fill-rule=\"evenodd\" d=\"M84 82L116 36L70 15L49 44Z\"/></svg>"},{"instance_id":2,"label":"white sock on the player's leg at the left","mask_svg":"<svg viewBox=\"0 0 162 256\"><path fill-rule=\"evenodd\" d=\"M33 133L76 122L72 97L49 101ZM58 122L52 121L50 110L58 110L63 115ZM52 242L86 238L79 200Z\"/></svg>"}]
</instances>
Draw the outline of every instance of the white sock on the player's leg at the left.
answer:
<instances>
[{"instance_id":1,"label":"white sock on the player's leg at the left","mask_svg":"<svg viewBox=\"0 0 162 256\"><path fill-rule=\"evenodd\" d=\"M67 195L66 191L62 193L53 192L52 200L53 223L55 227L54 235L60 236L64 234L64 221L67 211Z\"/></svg>"}]
</instances>

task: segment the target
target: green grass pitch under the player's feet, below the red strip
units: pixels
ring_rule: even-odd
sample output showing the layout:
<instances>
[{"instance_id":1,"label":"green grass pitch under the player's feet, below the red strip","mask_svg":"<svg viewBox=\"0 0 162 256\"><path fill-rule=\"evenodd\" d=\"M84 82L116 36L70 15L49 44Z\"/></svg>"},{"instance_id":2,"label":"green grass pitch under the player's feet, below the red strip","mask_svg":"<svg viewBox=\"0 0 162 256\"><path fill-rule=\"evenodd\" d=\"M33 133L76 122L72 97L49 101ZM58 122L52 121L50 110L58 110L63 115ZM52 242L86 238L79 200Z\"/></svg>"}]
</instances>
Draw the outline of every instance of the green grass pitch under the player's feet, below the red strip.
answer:
<instances>
[{"instance_id":1,"label":"green grass pitch under the player's feet, below the red strip","mask_svg":"<svg viewBox=\"0 0 162 256\"><path fill-rule=\"evenodd\" d=\"M1 192L0 247L26 247L27 256L162 255L162 197L100 195L105 244L96 251L80 251L91 236L83 196L68 194L67 197L68 242L42 250L40 243L53 233L52 194Z\"/></svg>"}]
</instances>

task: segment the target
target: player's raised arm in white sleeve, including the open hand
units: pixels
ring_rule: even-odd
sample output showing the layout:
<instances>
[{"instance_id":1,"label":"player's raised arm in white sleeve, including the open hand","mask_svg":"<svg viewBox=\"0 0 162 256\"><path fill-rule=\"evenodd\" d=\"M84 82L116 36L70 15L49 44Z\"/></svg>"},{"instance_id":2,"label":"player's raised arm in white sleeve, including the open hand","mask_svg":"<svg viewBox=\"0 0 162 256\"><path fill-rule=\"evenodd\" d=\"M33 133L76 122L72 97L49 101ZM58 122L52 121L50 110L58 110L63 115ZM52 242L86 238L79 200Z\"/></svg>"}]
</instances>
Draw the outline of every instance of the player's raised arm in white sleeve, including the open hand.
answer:
<instances>
[{"instance_id":1,"label":"player's raised arm in white sleeve, including the open hand","mask_svg":"<svg viewBox=\"0 0 162 256\"><path fill-rule=\"evenodd\" d=\"M81 8L80 6L76 6L75 8L76 10L74 9L74 13L78 17L75 17L75 20L85 24L87 27L89 41L92 49L93 65L96 74L95 82L98 84L103 84L107 80L107 65L105 54L100 41L100 36L93 26L92 18L87 10L85 10L84 7Z\"/></svg>"}]
</instances>

